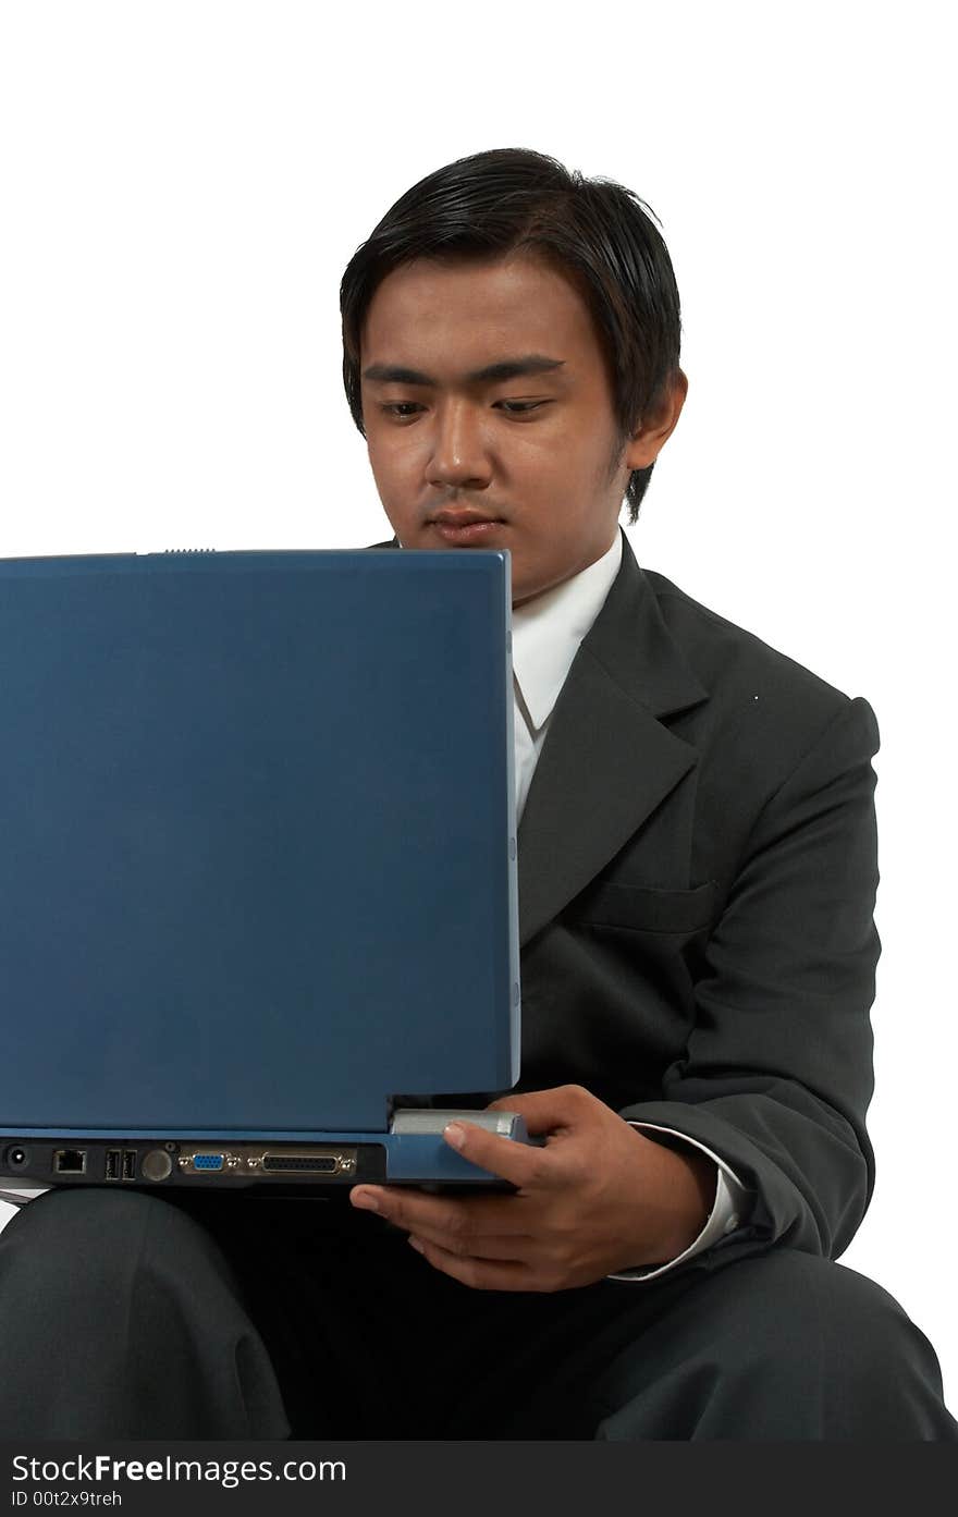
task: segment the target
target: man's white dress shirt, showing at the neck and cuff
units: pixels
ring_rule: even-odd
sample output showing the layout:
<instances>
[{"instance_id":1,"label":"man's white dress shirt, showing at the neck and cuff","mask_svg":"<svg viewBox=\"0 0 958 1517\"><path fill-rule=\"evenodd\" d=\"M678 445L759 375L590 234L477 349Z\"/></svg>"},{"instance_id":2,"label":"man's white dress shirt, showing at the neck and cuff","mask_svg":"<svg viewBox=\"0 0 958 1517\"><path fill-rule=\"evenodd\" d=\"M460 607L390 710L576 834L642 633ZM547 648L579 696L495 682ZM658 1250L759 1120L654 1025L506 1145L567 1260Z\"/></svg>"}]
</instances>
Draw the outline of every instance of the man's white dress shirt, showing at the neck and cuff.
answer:
<instances>
[{"instance_id":1,"label":"man's white dress shirt, showing at the neck and cuff","mask_svg":"<svg viewBox=\"0 0 958 1517\"><path fill-rule=\"evenodd\" d=\"M538 595L528 605L512 610L512 693L515 698L515 825L521 818L532 784L538 755L546 742L549 718L559 690L590 631L621 564L621 532L609 551L588 569L552 590ZM644 1132L662 1132L699 1148L715 1164L715 1197L705 1227L693 1244L676 1259L643 1270L611 1274L611 1280L650 1280L673 1270L684 1259L702 1253L723 1233L741 1226L749 1209L749 1192L738 1176L717 1154L696 1138L653 1123L632 1123Z\"/></svg>"}]
</instances>

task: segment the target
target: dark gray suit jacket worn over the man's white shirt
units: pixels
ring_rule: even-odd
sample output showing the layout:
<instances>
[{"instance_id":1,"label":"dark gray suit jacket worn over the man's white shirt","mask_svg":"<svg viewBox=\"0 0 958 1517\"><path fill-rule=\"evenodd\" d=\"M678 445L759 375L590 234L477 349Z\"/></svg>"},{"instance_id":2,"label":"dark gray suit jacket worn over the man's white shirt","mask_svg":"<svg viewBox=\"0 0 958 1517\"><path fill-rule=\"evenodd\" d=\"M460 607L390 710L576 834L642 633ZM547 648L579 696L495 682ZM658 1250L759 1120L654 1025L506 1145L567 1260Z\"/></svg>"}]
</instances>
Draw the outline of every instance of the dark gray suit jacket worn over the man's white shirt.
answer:
<instances>
[{"instance_id":1,"label":"dark gray suit jacket worn over the man's white shirt","mask_svg":"<svg viewBox=\"0 0 958 1517\"><path fill-rule=\"evenodd\" d=\"M753 1212L697 1268L835 1258L869 1203L878 745L867 701L623 534L518 830L517 1089L579 1083L726 1159Z\"/></svg>"}]
</instances>

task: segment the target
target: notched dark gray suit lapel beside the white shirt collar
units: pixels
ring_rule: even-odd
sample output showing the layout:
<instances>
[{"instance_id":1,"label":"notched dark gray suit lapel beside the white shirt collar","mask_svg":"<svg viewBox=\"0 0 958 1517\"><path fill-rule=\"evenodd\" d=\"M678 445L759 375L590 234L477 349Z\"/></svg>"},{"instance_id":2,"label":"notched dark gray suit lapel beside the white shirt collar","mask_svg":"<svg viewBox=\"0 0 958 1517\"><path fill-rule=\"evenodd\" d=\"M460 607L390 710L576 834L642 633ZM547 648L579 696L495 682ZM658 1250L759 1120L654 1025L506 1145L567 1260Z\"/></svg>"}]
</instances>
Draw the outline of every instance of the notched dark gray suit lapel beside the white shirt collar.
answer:
<instances>
[{"instance_id":1,"label":"notched dark gray suit lapel beside the white shirt collar","mask_svg":"<svg viewBox=\"0 0 958 1517\"><path fill-rule=\"evenodd\" d=\"M623 534L621 567L559 692L518 828L521 944L688 774L696 749L659 718L705 699Z\"/></svg>"}]
</instances>

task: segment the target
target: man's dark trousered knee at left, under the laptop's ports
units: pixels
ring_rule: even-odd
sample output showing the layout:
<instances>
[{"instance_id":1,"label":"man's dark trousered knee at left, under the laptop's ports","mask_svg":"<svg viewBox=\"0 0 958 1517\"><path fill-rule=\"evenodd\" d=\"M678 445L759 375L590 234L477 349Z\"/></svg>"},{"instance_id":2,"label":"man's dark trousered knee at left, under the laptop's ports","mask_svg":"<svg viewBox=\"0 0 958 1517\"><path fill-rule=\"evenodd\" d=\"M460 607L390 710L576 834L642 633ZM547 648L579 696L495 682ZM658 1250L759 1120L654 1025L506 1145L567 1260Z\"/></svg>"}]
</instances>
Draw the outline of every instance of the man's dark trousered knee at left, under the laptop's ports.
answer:
<instances>
[{"instance_id":1,"label":"man's dark trousered knee at left, under the laptop's ports","mask_svg":"<svg viewBox=\"0 0 958 1517\"><path fill-rule=\"evenodd\" d=\"M212 1236L159 1197L97 1188L47 1192L0 1235L0 1418L68 1438L288 1432Z\"/></svg>"}]
</instances>

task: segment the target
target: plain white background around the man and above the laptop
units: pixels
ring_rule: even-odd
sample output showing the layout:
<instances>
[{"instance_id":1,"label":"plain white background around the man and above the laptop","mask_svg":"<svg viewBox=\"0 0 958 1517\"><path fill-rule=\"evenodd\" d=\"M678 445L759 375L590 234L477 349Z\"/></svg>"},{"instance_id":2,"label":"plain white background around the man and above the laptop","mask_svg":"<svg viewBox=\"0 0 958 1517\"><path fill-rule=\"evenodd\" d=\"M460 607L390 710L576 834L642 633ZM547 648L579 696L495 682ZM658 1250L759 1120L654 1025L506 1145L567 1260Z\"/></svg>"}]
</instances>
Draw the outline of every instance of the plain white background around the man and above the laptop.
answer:
<instances>
[{"instance_id":1,"label":"plain white background around the man and above the laptop","mask_svg":"<svg viewBox=\"0 0 958 1517\"><path fill-rule=\"evenodd\" d=\"M844 1264L955 1409L949 9L0 3L0 555L379 540L356 246L488 147L635 190L690 378L637 557L878 713L879 1180Z\"/></svg>"}]
</instances>

